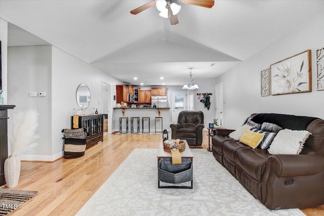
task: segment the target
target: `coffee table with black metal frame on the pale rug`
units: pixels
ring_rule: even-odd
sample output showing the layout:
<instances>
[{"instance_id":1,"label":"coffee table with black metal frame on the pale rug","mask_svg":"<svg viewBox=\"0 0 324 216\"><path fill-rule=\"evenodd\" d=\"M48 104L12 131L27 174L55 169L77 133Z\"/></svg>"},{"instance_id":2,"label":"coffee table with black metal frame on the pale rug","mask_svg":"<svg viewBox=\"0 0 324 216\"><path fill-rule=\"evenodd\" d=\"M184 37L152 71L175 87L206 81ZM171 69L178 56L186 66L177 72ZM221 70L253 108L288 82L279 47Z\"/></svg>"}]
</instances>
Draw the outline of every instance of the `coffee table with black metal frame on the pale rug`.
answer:
<instances>
[{"instance_id":1,"label":"coffee table with black metal frame on the pale rug","mask_svg":"<svg viewBox=\"0 0 324 216\"><path fill-rule=\"evenodd\" d=\"M183 158L186 158L184 160L188 161L190 160L191 161L191 167L190 169L187 169L187 170L184 170L184 171L181 171L181 176L177 177L177 176L172 176L172 175L178 175L180 174L177 173L177 174L174 174L172 172L168 172L168 170L161 170L160 167L159 167L159 162L163 162L162 160L165 160L164 158L170 158L169 160L171 160L172 158L172 155L171 153L168 153L164 150L163 148L163 141L161 141L160 143L160 146L159 146L159 149L158 149L158 153L157 153L157 170L158 170L158 188L187 188L187 189L192 189L193 187L193 178L192 178L192 163L193 163L193 155L190 151L190 148L189 148L189 145L187 143L186 140L183 140L185 142L185 150L183 152L181 152L181 160ZM172 151L172 150L171 150ZM161 160L161 161L160 161ZM179 167L179 165L181 166L181 164L169 164L169 167ZM180 181L180 183L183 183L181 182L183 178L183 176L187 179L189 178L188 181L191 181L191 185L190 186L176 186L176 185L173 185L173 186L160 186L160 175L170 175L170 178L168 180L164 180L163 182L166 182L166 183L172 183L172 184L177 184L178 181ZM191 177L191 178L190 178ZM177 179L179 178L179 179ZM170 180L170 181L169 181ZM185 182L188 182L188 181L185 181Z\"/></svg>"}]
</instances>

